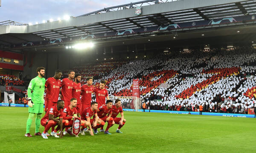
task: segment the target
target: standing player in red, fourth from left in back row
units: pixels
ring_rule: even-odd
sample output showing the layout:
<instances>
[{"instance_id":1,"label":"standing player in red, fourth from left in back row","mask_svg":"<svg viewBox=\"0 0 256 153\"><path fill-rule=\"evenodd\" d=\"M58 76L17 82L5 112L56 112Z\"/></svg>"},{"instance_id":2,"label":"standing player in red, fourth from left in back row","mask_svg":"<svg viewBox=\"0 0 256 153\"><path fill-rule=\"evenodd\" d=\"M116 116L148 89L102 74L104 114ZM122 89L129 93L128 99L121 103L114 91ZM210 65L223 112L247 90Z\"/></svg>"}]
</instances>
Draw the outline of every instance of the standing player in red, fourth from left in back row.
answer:
<instances>
[{"instance_id":1,"label":"standing player in red, fourth from left in back row","mask_svg":"<svg viewBox=\"0 0 256 153\"><path fill-rule=\"evenodd\" d=\"M77 104L76 104L76 110L77 114L81 114L81 75L80 74L75 74L75 82L73 82L73 89L72 89L72 98L77 99ZM71 101L70 101L71 102Z\"/></svg>"}]
</instances>

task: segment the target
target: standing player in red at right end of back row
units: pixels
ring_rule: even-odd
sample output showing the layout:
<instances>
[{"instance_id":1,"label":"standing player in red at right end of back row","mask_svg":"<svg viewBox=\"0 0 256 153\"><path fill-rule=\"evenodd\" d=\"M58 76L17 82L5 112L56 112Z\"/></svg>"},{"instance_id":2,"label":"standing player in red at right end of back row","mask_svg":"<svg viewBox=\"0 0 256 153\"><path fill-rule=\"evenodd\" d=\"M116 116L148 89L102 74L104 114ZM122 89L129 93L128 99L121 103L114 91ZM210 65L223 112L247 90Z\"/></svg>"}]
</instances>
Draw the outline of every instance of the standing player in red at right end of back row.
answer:
<instances>
[{"instance_id":1,"label":"standing player in red at right end of back row","mask_svg":"<svg viewBox=\"0 0 256 153\"><path fill-rule=\"evenodd\" d=\"M109 100L108 91L107 89L105 89L105 85L106 82L104 80L101 80L99 83L99 87L93 90L96 95L96 102L98 103L98 107L105 105L106 98L107 100Z\"/></svg>"}]
</instances>

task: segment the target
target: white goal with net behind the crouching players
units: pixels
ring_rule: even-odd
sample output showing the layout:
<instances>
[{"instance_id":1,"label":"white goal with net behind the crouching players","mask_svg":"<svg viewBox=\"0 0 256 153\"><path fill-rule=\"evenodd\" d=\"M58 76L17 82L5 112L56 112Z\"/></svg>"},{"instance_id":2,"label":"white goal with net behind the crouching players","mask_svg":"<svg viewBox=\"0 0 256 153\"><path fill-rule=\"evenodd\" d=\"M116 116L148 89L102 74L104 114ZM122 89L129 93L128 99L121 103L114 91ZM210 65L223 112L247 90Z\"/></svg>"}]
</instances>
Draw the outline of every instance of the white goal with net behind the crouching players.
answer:
<instances>
[{"instance_id":1,"label":"white goal with net behind the crouching players","mask_svg":"<svg viewBox=\"0 0 256 153\"><path fill-rule=\"evenodd\" d=\"M135 96L110 96L109 97L113 101L113 105L116 99L121 100L121 106L123 109L132 109L134 111L138 111L141 109L141 101L140 98Z\"/></svg>"}]
</instances>

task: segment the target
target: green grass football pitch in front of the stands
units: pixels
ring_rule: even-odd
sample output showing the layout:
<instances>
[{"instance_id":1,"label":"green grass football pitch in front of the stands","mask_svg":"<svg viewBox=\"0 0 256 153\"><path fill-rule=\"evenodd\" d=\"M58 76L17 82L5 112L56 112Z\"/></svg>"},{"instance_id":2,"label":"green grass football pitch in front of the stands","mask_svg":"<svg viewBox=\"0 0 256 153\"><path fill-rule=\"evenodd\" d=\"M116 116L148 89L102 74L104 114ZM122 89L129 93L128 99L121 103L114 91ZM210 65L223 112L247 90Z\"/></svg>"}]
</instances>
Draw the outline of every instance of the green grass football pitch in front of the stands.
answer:
<instances>
[{"instance_id":1,"label":"green grass football pitch in front of the stands","mask_svg":"<svg viewBox=\"0 0 256 153\"><path fill-rule=\"evenodd\" d=\"M244 153L255 152L256 119L169 113L124 112L121 133L25 137L28 108L0 107L0 153ZM104 129L106 125L104 126ZM40 127L43 132L43 126ZM49 131L50 132L50 131Z\"/></svg>"}]
</instances>

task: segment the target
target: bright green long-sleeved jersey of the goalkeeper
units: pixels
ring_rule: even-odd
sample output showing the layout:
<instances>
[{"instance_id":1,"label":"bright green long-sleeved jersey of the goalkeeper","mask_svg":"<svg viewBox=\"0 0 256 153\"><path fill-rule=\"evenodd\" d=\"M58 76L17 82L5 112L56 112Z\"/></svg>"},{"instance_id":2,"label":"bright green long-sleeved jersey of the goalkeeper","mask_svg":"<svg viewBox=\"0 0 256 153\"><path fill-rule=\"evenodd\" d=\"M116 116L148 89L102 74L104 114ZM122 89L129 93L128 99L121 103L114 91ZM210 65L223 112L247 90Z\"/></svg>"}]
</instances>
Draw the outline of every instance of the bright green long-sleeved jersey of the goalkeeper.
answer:
<instances>
[{"instance_id":1,"label":"bright green long-sleeved jersey of the goalkeeper","mask_svg":"<svg viewBox=\"0 0 256 153\"><path fill-rule=\"evenodd\" d=\"M44 103L44 85L45 79L38 76L29 82L28 89L33 92L31 93L28 90L28 98L31 97L33 103Z\"/></svg>"}]
</instances>

